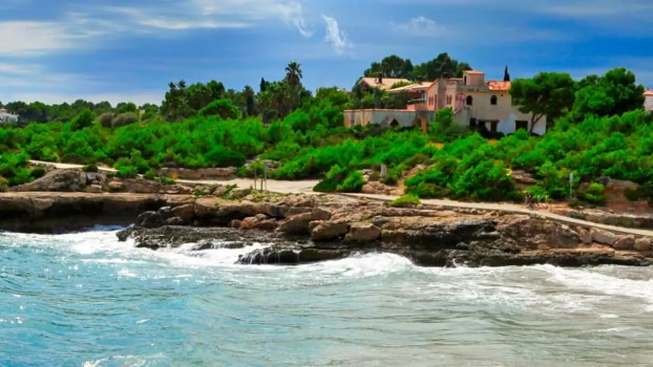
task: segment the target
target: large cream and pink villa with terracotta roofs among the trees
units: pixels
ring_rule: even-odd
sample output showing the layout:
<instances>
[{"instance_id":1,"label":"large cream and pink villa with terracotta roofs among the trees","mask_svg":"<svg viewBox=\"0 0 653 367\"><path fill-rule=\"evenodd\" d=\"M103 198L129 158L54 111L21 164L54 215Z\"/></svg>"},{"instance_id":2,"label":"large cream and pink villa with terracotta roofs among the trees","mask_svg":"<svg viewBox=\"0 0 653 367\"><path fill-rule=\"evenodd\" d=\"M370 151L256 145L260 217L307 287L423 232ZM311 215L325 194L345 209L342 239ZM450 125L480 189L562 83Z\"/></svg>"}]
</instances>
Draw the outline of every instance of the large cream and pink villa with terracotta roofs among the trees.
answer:
<instances>
[{"instance_id":1,"label":"large cream and pink villa with terracotta roofs among the trees","mask_svg":"<svg viewBox=\"0 0 653 367\"><path fill-rule=\"evenodd\" d=\"M484 127L490 133L503 134L531 128L532 114L523 114L512 104L510 82L485 80L484 72L466 71L462 78L441 78L386 90L409 93L411 101L404 110L367 110L364 114L357 112L362 110L345 110L345 125L367 125L394 118L404 127L422 126L422 119L432 121L437 110L451 107L458 125ZM546 118L542 117L532 131L543 135L546 126Z\"/></svg>"}]
</instances>

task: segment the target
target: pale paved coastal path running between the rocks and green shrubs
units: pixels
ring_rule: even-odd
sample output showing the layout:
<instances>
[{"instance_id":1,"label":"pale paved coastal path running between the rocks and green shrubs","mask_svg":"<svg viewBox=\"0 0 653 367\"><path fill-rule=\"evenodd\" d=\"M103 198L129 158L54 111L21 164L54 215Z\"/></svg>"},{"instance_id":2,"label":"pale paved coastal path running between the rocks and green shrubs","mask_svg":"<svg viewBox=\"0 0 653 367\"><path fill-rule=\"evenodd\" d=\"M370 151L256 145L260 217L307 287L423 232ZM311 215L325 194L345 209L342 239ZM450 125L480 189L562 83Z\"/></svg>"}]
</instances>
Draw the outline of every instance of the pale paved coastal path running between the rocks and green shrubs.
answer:
<instances>
[{"instance_id":1,"label":"pale paved coastal path running between the rocks and green shrubs","mask_svg":"<svg viewBox=\"0 0 653 367\"><path fill-rule=\"evenodd\" d=\"M71 165L67 163L51 163L51 162L42 162L42 161L31 161L32 163L35 164L40 164L40 165L54 165L56 168L82 168L82 165ZM116 172L114 168L106 168L106 167L99 167L100 170L104 172ZM214 180L176 180L177 182L180 183L205 183L205 184L221 184L221 185L232 185L236 184L238 187L250 187L253 186L254 180L249 180L245 178L237 178L235 180L221 180L221 181L214 181ZM276 180L268 180L267 182L267 189L269 191L273 191L276 193L313 193L313 186L317 184L317 180L305 180L305 181L276 181ZM260 185L260 180L259 180L259 185ZM259 186L260 187L260 186ZM341 194L343 196L347 197L360 197L360 198L365 198L365 199L374 199L374 200L382 200L382 201L391 201L398 196L392 196L392 195L374 195L374 194L358 194L358 193L348 193L348 194ZM627 227L616 227L613 225L605 225L601 223L594 223L590 221L584 221L581 219L575 219L572 217L567 217L565 215L559 215L559 214L554 214L551 212L547 212L545 210L529 210L528 208L524 208L524 206L516 205L516 204L503 204L503 203L493 203L493 202L461 202L461 201L454 201L454 200L437 200L437 199L425 199L422 200L423 204L426 205L437 205L437 206L442 206L444 208L470 208L470 209L479 209L479 210L502 210L503 212L506 213L511 213L511 214L530 214L530 215L539 215L540 217L545 217L547 219L551 219L554 221L558 221L560 223L564 223L567 225L573 225L573 226L581 226L581 227L594 227L594 228L600 228L600 229L605 229L606 231L611 231L616 234L635 234L637 236L650 236L653 237L653 231L648 231L646 229L633 229L633 228L627 228Z\"/></svg>"}]
</instances>

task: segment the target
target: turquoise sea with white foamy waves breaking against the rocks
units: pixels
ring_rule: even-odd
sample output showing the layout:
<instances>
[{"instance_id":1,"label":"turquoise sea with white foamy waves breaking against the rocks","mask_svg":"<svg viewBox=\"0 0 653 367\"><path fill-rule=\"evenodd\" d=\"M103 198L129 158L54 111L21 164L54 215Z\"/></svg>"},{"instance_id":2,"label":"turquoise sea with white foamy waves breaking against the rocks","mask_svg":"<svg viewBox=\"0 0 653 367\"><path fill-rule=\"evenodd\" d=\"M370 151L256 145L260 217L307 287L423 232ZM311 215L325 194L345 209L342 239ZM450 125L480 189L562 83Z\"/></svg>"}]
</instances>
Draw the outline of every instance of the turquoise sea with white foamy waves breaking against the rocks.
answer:
<instances>
[{"instance_id":1,"label":"turquoise sea with white foamy waves breaking against the rocks","mask_svg":"<svg viewBox=\"0 0 653 367\"><path fill-rule=\"evenodd\" d=\"M653 365L650 268L232 264L243 252L0 234L0 366Z\"/></svg>"}]
</instances>

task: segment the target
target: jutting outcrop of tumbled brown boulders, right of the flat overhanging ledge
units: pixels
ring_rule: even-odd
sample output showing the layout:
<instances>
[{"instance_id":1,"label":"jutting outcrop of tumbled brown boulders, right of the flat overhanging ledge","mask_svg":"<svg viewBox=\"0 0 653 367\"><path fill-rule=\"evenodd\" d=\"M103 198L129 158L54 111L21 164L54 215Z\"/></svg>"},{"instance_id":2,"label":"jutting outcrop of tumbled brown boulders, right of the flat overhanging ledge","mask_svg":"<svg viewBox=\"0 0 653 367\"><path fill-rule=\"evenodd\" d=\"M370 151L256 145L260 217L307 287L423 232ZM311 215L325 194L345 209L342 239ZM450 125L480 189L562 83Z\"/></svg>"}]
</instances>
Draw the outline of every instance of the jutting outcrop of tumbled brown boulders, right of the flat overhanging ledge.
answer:
<instances>
[{"instance_id":1,"label":"jutting outcrop of tumbled brown boulders, right of the flat overhanging ledge","mask_svg":"<svg viewBox=\"0 0 653 367\"><path fill-rule=\"evenodd\" d=\"M332 195L251 199L200 198L150 210L118 237L151 249L269 244L242 255L239 264L315 263L377 251L421 266L653 264L650 238L571 228L528 215L391 208Z\"/></svg>"}]
</instances>

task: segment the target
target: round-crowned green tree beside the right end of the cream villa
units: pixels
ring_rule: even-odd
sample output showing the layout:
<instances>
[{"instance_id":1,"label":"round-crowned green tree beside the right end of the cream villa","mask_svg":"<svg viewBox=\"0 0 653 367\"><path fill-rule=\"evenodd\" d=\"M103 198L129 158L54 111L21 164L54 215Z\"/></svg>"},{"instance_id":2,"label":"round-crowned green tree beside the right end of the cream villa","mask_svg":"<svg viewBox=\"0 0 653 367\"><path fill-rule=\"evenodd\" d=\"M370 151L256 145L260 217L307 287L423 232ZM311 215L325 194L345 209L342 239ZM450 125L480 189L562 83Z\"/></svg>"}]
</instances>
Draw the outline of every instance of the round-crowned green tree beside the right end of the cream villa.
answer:
<instances>
[{"instance_id":1,"label":"round-crowned green tree beside the right end of the cream villa","mask_svg":"<svg viewBox=\"0 0 653 367\"><path fill-rule=\"evenodd\" d=\"M517 78L510 87L513 106L519 112L532 114L532 132L537 121L547 118L547 126L571 109L574 103L575 83L571 75L561 72L540 72L533 78Z\"/></svg>"}]
</instances>

